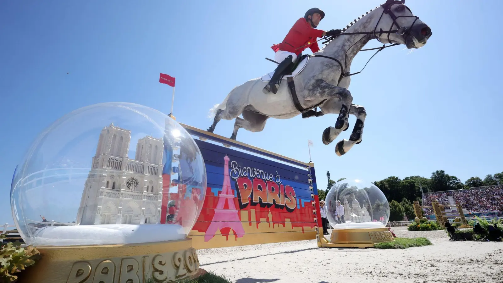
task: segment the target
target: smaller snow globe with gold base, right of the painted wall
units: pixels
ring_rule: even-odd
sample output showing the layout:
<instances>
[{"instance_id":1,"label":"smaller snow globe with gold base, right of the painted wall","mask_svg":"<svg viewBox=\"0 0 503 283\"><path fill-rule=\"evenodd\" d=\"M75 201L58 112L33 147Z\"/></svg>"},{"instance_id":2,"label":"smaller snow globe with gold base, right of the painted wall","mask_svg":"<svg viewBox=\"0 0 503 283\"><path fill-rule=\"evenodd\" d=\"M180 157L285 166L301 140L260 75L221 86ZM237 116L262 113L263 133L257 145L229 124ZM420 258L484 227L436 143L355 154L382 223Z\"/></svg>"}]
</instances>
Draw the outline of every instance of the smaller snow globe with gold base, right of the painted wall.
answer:
<instances>
[{"instance_id":1,"label":"smaller snow globe with gold base, right of the painted wall","mask_svg":"<svg viewBox=\"0 0 503 283\"><path fill-rule=\"evenodd\" d=\"M325 204L326 217L332 227L330 243L370 247L393 240L386 228L388 200L376 185L363 179L343 179L330 188Z\"/></svg>"}]
</instances>

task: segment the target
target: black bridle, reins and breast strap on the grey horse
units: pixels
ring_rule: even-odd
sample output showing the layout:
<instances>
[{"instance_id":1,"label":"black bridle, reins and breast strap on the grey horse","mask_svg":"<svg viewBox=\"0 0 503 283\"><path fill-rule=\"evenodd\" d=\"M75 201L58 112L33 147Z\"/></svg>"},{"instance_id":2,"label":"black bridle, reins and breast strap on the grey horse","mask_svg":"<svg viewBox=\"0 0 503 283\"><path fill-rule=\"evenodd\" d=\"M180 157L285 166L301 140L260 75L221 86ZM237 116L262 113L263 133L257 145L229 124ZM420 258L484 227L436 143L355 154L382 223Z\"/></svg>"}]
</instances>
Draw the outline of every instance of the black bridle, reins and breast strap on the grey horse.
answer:
<instances>
[{"instance_id":1,"label":"black bridle, reins and breast strap on the grey horse","mask_svg":"<svg viewBox=\"0 0 503 283\"><path fill-rule=\"evenodd\" d=\"M397 35L403 35L404 36L404 39L406 40L408 35L410 34L410 31L412 29L412 27L414 26L415 22L419 19L419 17L417 16L396 16L393 11L391 11L391 6L393 6L394 4L403 4L403 6L405 6L405 0L401 0L401 1L398 1L398 0L395 0L395 1L390 1L390 0L387 0L386 3L382 4L381 6L384 8L383 9L383 12L381 14L381 17L379 17L379 20L377 21L377 24L374 28L373 31L371 32L344 32L344 33L340 33L340 34L337 34L337 35L333 35L333 36L325 36L323 37L322 39L326 39L326 41L322 42L322 44L325 44L327 42L330 42L332 41L333 39L335 39L336 37L338 36L341 36L341 35L356 35L356 34L372 34L379 42L383 43L379 37L383 34L383 33L387 33L388 34L388 37L387 37L387 43L391 43L390 39L389 39L389 35L391 33L396 33ZM412 12L410 11L410 9L405 6L405 8L412 14ZM389 30L388 31L383 31L382 29L380 29L380 31L378 32L379 36L377 36L377 33L376 33L376 29L377 27L379 26L379 23L381 22L381 19L383 17L384 14L387 14L390 16L391 20L393 21L393 23L391 23L391 26L389 27ZM398 18L405 18L405 17L415 17L415 20L414 22L412 22L412 25L410 25L410 28L407 29L406 27L401 27L400 25L398 25L398 23L396 22L396 20ZM356 20L355 20L356 22ZM393 26L396 26L398 29L396 30L392 30ZM365 37L362 37L360 40L364 39ZM320 40L322 40L320 39ZM344 57L345 57L345 62L344 62L344 66L343 67L343 64L341 63L341 61L339 61L337 58L333 58L333 57L330 57L330 56L325 56L325 55L306 55L306 56L309 56L309 57L324 57L324 58L328 58L328 59L332 59L336 62L339 63L339 65L341 65L341 77L339 77L339 81L337 82L337 85L339 85L339 83L341 83L341 80L345 77L350 77L350 76L353 76L353 75L356 75L356 74L360 74L362 73L363 69L365 69L365 67L367 66L367 64L369 63L369 61L381 50L383 50L384 48L387 48L387 47L391 47L391 46L396 46L396 45L401 45L401 43L393 43L391 45L388 45L386 46L385 44L383 44L383 46L381 47L377 47L377 48L370 48L370 49L361 49L360 51L368 51L368 50L376 50L376 53L374 53L374 55L372 55L372 57L370 57L370 59L367 61L367 63L365 63L365 66L363 66L363 68L360 70L360 72L356 72L356 73L353 73L353 74L350 74L349 72L346 72L345 70L347 69L348 67L348 60L347 60L347 57L348 57L348 51L351 50L351 48L357 44L360 40L358 40L357 42L355 42L353 45L351 45L350 48L348 48L348 50L345 52L344 54Z\"/></svg>"}]
</instances>

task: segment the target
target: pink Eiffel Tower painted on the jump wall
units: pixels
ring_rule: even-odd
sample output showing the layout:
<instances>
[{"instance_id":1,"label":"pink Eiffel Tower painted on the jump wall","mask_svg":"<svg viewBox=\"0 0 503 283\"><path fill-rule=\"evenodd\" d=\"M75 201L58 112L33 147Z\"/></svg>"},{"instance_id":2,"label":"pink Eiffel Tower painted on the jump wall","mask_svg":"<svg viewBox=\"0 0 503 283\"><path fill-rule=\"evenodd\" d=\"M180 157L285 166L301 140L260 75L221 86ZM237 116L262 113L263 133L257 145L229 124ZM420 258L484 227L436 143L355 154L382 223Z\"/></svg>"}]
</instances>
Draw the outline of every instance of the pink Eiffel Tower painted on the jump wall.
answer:
<instances>
[{"instance_id":1,"label":"pink Eiffel Tower painted on the jump wall","mask_svg":"<svg viewBox=\"0 0 503 283\"><path fill-rule=\"evenodd\" d=\"M243 225L237 215L238 210L234 205L234 194L232 193L232 189L230 187L229 157L225 156L223 160L225 163L223 166L222 192L218 196L217 207L214 209L215 215L213 216L211 224L204 235L205 242L211 240L215 233L222 228L230 228L234 230L234 234L237 234L237 237L242 237L244 234ZM228 209L224 209L226 201L229 207Z\"/></svg>"}]
</instances>

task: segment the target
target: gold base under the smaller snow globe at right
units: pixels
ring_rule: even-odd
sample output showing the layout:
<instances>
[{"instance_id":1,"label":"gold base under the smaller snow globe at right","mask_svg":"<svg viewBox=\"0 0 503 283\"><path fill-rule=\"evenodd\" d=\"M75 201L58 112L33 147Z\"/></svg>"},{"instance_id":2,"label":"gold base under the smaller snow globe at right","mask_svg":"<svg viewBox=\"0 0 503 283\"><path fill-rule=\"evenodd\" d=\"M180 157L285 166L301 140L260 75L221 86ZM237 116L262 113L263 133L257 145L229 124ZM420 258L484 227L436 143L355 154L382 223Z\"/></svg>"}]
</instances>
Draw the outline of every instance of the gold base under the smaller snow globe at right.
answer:
<instances>
[{"instance_id":1,"label":"gold base under the smaller snow globe at right","mask_svg":"<svg viewBox=\"0 0 503 283\"><path fill-rule=\"evenodd\" d=\"M388 228L332 229L330 242L321 236L323 229L318 230L320 233L316 235L318 247L371 248L377 243L394 241Z\"/></svg>"}]
</instances>

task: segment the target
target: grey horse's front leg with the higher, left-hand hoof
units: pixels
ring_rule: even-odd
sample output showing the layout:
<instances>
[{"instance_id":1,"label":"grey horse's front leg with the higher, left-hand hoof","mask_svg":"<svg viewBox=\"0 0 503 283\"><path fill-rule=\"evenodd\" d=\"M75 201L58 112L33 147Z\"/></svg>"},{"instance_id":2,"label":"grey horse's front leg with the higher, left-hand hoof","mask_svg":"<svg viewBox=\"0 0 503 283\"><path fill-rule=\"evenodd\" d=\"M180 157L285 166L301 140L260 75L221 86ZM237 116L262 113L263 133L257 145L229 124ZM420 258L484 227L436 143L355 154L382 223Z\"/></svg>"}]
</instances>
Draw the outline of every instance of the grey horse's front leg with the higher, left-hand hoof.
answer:
<instances>
[{"instance_id":1,"label":"grey horse's front leg with the higher, left-hand hoof","mask_svg":"<svg viewBox=\"0 0 503 283\"><path fill-rule=\"evenodd\" d=\"M348 129L349 110L353 97L348 89L330 85L323 80L316 80L311 90L312 96L316 99L336 99L338 103L333 105L323 106L322 110L326 113L339 113L337 122L334 127L327 127L323 131L321 140L323 144L328 145L342 132ZM336 106L337 104L337 106ZM339 109L330 109L340 107Z\"/></svg>"}]
</instances>

